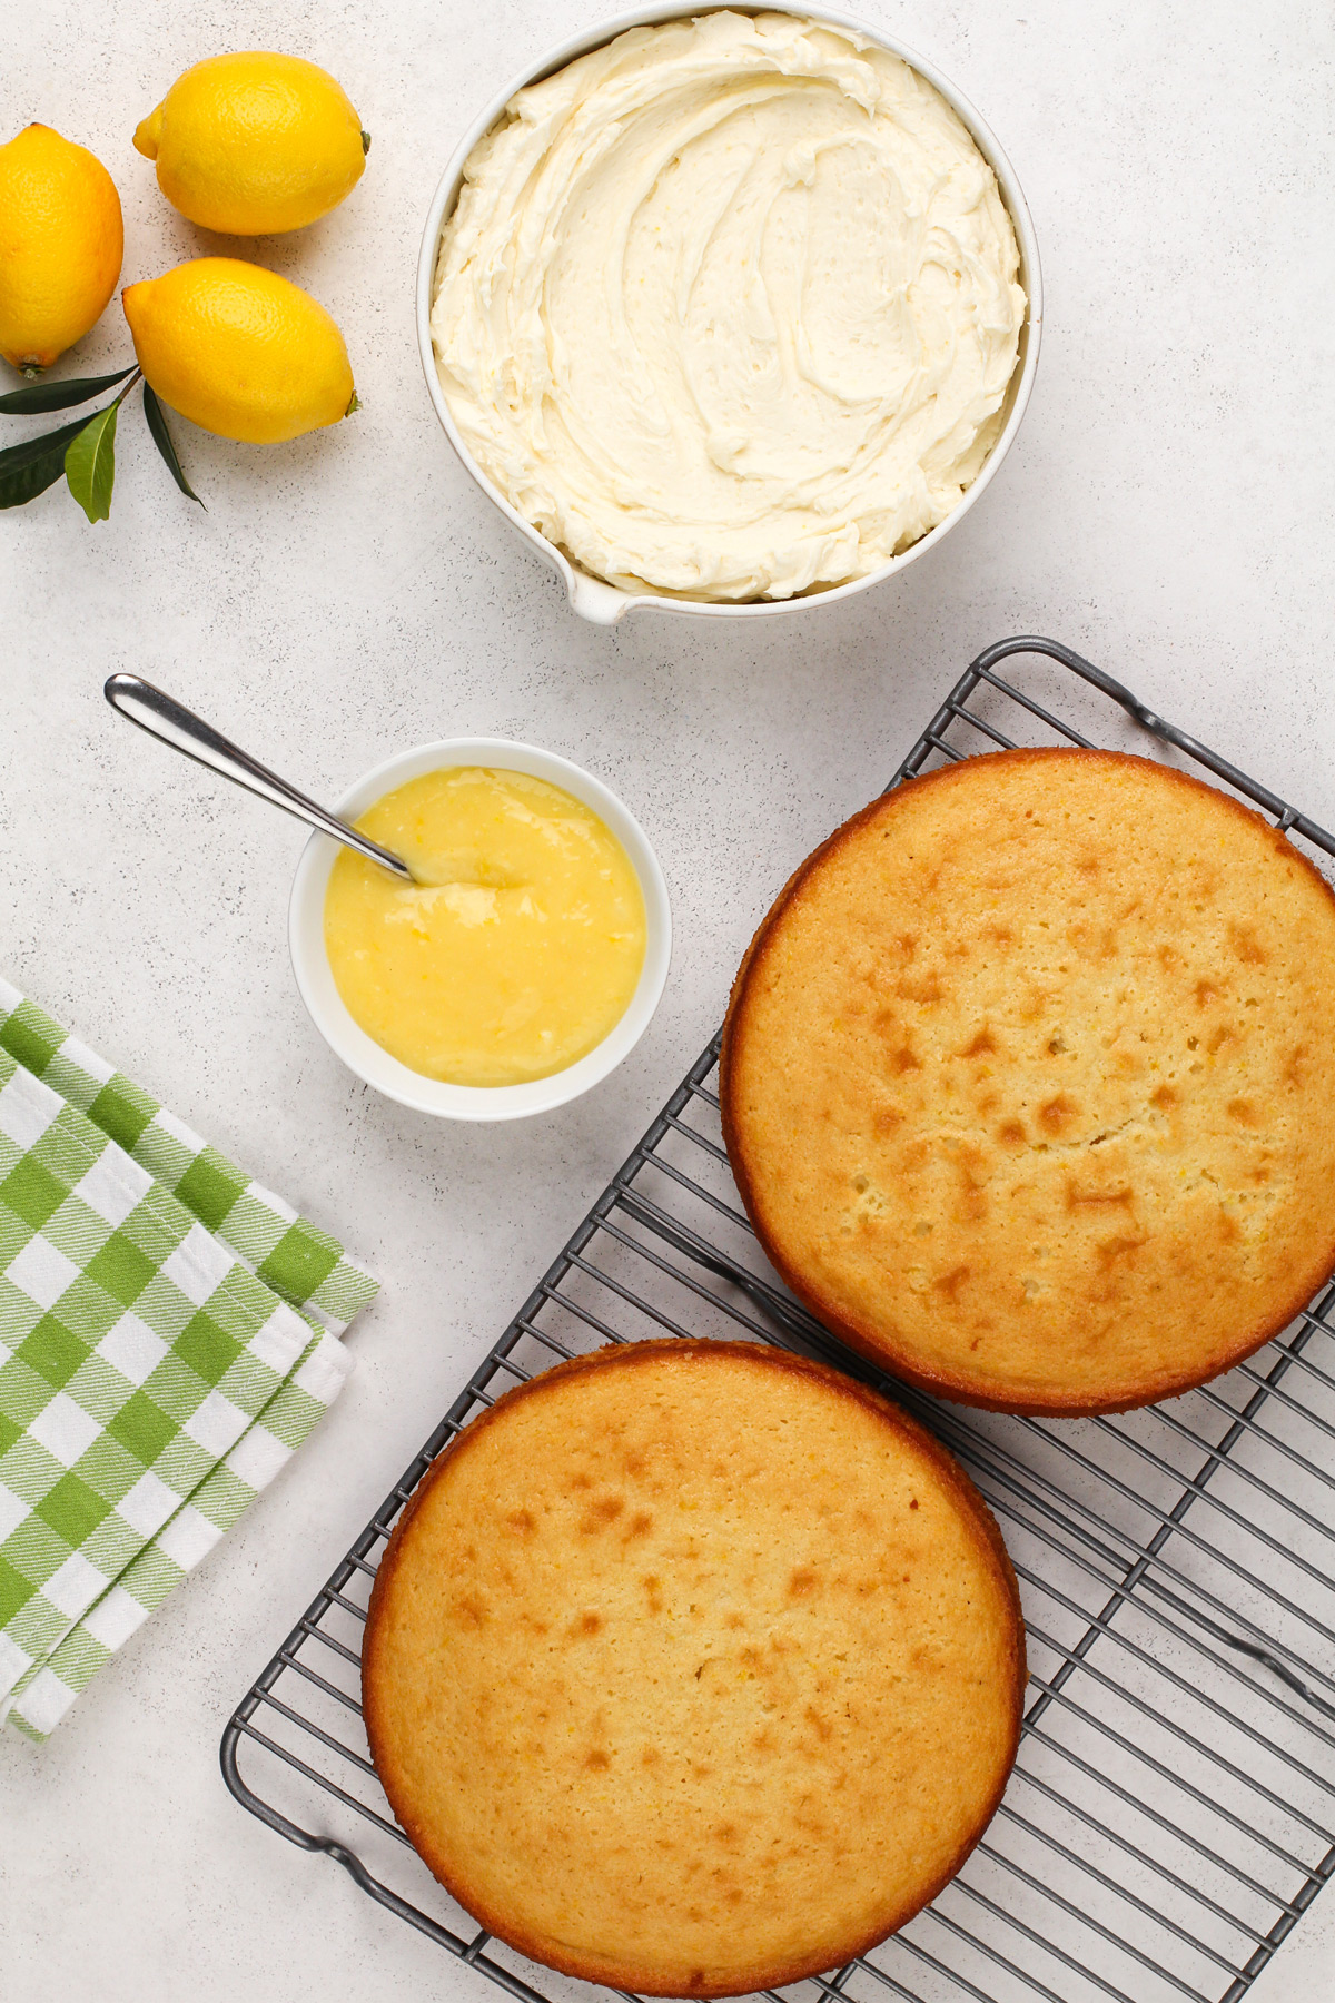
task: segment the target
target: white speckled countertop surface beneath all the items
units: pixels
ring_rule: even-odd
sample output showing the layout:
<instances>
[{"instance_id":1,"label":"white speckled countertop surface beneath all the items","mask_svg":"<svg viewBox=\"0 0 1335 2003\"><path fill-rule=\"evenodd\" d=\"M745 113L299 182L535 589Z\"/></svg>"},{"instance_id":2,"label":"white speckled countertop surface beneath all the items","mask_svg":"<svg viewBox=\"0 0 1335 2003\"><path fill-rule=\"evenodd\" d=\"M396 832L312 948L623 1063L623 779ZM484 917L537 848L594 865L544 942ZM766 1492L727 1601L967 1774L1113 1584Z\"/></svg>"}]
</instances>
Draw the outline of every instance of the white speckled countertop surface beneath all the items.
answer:
<instances>
[{"instance_id":1,"label":"white speckled countertop surface beneath all the items","mask_svg":"<svg viewBox=\"0 0 1335 2003\"><path fill-rule=\"evenodd\" d=\"M0 1739L0 1995L362 2003L494 1995L242 1815L222 1723L715 1028L791 865L897 765L969 657L1047 631L1335 823L1335 24L1317 0L861 0L983 108L1047 282L1031 413L947 543L821 615L582 625L454 465L412 332L420 218L458 130L590 0L50 0L6 42L0 136L90 144L124 280L236 250L340 320L356 423L278 449L178 423L202 515L122 421L110 523L62 489L0 521L0 965L376 1268L352 1382L296 1462L72 1711ZM202 238L134 124L200 56L332 68L374 134L292 240ZM118 306L86 373L130 355ZM18 437L14 421L8 437ZM592 767L675 899L666 999L582 1104L434 1126L328 1056L284 947L294 823L158 753L100 697L138 669L332 795L456 731ZM1329 1909L1327 1909L1329 1907ZM1335 1995L1327 1895L1255 2003Z\"/></svg>"}]
</instances>

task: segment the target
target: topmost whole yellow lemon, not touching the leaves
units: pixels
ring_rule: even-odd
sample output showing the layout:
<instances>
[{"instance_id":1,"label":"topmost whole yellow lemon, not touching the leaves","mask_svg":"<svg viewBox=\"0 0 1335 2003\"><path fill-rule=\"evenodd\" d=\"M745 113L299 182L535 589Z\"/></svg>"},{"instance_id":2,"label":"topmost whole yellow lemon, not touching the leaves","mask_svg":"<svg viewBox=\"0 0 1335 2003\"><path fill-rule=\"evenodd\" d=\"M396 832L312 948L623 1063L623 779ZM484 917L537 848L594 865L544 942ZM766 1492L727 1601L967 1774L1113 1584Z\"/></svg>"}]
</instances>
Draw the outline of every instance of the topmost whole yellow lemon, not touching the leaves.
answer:
<instances>
[{"instance_id":1,"label":"topmost whole yellow lemon, not touching the leaves","mask_svg":"<svg viewBox=\"0 0 1335 2003\"><path fill-rule=\"evenodd\" d=\"M370 138L328 70L246 50L178 76L134 144L190 222L268 236L336 208L362 178Z\"/></svg>"}]
</instances>

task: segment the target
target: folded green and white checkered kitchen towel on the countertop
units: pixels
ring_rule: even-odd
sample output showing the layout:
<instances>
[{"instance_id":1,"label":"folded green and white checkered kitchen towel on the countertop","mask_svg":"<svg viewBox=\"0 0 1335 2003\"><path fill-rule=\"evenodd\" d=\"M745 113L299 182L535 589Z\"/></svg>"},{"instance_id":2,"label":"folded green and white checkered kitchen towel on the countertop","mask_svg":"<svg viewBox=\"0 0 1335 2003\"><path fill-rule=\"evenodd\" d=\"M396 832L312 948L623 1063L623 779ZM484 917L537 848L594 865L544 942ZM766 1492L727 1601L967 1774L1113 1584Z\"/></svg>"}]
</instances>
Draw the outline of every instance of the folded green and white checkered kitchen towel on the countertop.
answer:
<instances>
[{"instance_id":1,"label":"folded green and white checkered kitchen towel on the countertop","mask_svg":"<svg viewBox=\"0 0 1335 2003\"><path fill-rule=\"evenodd\" d=\"M0 981L0 1719L44 1739L236 1522L374 1292Z\"/></svg>"}]
</instances>

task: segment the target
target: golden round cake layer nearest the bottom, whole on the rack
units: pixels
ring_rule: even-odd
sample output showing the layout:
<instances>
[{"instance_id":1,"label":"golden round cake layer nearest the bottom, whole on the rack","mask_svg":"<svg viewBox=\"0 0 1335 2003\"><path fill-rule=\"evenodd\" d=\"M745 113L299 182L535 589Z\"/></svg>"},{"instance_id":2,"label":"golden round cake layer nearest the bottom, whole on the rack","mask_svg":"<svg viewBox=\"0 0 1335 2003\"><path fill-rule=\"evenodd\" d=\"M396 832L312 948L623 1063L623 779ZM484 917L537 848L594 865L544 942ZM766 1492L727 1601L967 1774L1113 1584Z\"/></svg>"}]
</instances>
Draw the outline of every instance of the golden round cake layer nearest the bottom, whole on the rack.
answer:
<instances>
[{"instance_id":1,"label":"golden round cake layer nearest the bottom, whole on the rack","mask_svg":"<svg viewBox=\"0 0 1335 2003\"><path fill-rule=\"evenodd\" d=\"M959 1869L1015 1761L1015 1578L927 1432L803 1358L640 1342L504 1396L380 1564L366 1731L498 1939L741 1995L839 1967Z\"/></svg>"}]
</instances>

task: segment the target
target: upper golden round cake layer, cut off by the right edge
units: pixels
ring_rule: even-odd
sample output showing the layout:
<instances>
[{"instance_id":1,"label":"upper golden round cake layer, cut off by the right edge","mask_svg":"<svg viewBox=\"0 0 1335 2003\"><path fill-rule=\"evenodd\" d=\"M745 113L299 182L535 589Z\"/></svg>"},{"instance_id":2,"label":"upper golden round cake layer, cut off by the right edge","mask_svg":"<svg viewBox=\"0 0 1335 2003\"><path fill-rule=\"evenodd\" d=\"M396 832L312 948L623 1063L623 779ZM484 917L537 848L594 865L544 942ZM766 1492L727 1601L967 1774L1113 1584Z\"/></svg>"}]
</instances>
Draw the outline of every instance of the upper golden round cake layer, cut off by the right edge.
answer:
<instances>
[{"instance_id":1,"label":"upper golden round cake layer, cut off by the right edge","mask_svg":"<svg viewBox=\"0 0 1335 2003\"><path fill-rule=\"evenodd\" d=\"M733 989L723 1124L771 1260L949 1398L1113 1412L1335 1266L1335 897L1147 759L913 779L799 869Z\"/></svg>"}]
</instances>

